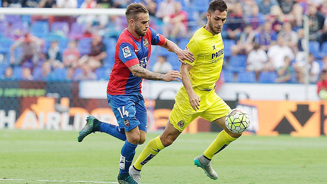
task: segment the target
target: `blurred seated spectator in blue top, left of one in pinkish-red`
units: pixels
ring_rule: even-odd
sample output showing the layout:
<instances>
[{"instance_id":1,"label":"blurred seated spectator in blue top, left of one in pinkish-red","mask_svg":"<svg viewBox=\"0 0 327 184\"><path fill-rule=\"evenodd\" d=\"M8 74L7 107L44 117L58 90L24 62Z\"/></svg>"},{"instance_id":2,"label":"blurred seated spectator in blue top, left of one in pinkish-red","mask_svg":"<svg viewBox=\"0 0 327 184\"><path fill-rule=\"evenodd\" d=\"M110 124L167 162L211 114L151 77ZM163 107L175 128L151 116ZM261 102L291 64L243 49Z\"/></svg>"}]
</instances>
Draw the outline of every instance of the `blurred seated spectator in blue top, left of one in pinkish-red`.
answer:
<instances>
[{"instance_id":1,"label":"blurred seated spectator in blue top, left of one in pinkish-red","mask_svg":"<svg viewBox=\"0 0 327 184\"><path fill-rule=\"evenodd\" d=\"M61 53L59 52L58 41L51 41L50 47L46 52L46 59L54 68L62 68Z\"/></svg>"}]
</instances>

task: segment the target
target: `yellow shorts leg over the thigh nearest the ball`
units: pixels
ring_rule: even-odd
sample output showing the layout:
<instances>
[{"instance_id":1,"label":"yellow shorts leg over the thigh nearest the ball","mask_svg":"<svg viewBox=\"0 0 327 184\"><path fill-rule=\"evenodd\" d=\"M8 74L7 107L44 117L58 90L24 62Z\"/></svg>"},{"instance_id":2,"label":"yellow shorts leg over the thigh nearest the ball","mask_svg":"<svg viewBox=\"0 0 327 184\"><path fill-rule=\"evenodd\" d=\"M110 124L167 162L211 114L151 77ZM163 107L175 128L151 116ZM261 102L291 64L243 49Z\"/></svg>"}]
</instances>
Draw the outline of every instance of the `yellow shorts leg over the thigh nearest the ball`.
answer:
<instances>
[{"instance_id":1,"label":"yellow shorts leg over the thigh nearest the ball","mask_svg":"<svg viewBox=\"0 0 327 184\"><path fill-rule=\"evenodd\" d=\"M200 116L209 122L225 117L231 110L227 103L214 92L210 94L207 100L212 102L211 106L202 112Z\"/></svg>"}]
</instances>

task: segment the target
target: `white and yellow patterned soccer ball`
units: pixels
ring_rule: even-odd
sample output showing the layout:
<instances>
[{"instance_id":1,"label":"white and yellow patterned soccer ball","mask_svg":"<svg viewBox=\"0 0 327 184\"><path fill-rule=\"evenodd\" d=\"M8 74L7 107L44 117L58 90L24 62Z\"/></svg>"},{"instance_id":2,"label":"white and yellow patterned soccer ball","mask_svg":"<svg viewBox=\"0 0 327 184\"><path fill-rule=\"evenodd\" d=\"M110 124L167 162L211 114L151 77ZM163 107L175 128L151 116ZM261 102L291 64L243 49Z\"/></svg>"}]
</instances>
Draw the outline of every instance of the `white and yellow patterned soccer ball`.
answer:
<instances>
[{"instance_id":1,"label":"white and yellow patterned soccer ball","mask_svg":"<svg viewBox=\"0 0 327 184\"><path fill-rule=\"evenodd\" d=\"M243 109L232 109L226 115L225 125L233 133L242 133L250 125L250 116Z\"/></svg>"}]
</instances>

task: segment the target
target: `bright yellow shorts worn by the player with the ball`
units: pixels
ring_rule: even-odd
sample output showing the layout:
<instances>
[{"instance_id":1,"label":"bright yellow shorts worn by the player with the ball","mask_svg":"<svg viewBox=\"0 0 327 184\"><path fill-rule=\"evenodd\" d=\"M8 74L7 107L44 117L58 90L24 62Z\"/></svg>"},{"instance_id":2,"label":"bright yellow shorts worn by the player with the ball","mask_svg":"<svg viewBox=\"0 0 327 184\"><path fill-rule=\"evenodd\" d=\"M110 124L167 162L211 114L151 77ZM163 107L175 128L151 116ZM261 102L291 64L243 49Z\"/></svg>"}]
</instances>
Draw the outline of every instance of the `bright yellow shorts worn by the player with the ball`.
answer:
<instances>
[{"instance_id":1,"label":"bright yellow shorts worn by the player with the ball","mask_svg":"<svg viewBox=\"0 0 327 184\"><path fill-rule=\"evenodd\" d=\"M174 108L169 115L170 123L180 132L183 132L198 116L213 122L226 116L231 110L226 102L215 93L215 90L205 91L196 87L193 87L193 90L201 99L199 109L195 111L192 108L186 89L182 86L177 92Z\"/></svg>"}]
</instances>

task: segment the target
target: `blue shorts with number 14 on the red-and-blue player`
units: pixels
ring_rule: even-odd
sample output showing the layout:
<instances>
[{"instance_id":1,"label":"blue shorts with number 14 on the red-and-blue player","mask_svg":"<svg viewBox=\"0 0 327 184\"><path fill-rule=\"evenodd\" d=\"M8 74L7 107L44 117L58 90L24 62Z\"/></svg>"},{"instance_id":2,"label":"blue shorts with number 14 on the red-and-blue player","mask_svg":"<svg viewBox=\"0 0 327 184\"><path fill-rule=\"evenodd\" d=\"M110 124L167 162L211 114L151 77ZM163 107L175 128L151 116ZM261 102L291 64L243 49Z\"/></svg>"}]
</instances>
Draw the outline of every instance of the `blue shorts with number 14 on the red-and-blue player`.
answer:
<instances>
[{"instance_id":1,"label":"blue shorts with number 14 on the red-and-blue player","mask_svg":"<svg viewBox=\"0 0 327 184\"><path fill-rule=\"evenodd\" d=\"M140 130L146 132L146 107L141 94L109 95L108 103L114 112L119 128L126 132L139 126Z\"/></svg>"}]
</instances>

